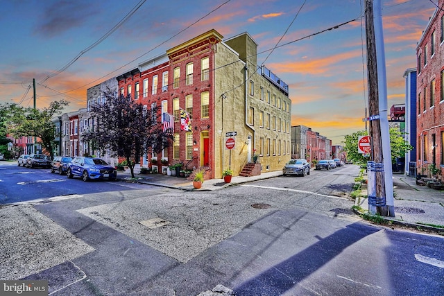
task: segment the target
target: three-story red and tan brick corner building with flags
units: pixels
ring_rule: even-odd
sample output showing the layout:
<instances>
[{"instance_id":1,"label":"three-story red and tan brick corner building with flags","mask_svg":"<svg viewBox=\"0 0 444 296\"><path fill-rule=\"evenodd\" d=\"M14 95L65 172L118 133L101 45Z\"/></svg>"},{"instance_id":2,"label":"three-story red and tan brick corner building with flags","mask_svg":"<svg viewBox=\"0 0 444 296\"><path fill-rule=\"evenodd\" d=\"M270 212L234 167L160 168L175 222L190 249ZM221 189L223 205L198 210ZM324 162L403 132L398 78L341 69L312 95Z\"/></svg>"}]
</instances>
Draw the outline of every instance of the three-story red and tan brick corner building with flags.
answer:
<instances>
[{"instance_id":1,"label":"three-story red and tan brick corner building with flags","mask_svg":"<svg viewBox=\"0 0 444 296\"><path fill-rule=\"evenodd\" d=\"M253 155L261 171L278 171L290 159L291 101L288 85L257 65L257 43L248 33L228 40L215 30L174 46L166 54L117 77L119 94L174 116L173 145L162 155L142 157L205 167L221 177L230 167L239 175ZM180 110L191 130L180 128ZM225 148L228 134L234 148Z\"/></svg>"}]
</instances>

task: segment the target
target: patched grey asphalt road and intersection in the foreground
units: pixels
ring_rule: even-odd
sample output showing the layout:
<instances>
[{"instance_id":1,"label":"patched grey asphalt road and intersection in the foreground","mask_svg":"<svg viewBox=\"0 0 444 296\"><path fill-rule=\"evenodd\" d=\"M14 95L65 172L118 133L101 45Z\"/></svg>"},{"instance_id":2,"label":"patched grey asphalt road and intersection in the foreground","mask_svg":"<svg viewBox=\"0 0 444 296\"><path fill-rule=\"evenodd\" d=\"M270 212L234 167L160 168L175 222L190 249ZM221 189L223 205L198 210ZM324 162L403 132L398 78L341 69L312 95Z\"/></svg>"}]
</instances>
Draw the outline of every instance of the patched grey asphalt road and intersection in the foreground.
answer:
<instances>
[{"instance_id":1,"label":"patched grey asphalt road and intersection in the foreground","mask_svg":"<svg viewBox=\"0 0 444 296\"><path fill-rule=\"evenodd\" d=\"M8 182L51 177L31 172ZM93 192L0 209L0 278L47 279L51 295L188 296L218 284L237 295L443 295L443 237L361 221L343 198L356 175L345 166L211 192L69 180L58 195Z\"/></svg>"}]
</instances>

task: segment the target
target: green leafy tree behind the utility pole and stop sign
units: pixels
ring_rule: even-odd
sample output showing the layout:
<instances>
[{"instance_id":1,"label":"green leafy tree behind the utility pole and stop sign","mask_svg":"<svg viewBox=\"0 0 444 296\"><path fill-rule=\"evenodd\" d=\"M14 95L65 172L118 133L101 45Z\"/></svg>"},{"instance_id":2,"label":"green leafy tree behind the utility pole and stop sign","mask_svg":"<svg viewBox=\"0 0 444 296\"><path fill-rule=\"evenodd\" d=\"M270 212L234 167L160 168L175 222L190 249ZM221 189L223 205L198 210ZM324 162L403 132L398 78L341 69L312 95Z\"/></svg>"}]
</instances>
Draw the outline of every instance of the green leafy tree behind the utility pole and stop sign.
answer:
<instances>
[{"instance_id":1,"label":"green leafy tree behind the utility pole and stop sign","mask_svg":"<svg viewBox=\"0 0 444 296\"><path fill-rule=\"evenodd\" d=\"M391 162L395 163L396 157L402 157L404 154L413 149L413 147L404 140L402 132L397 128L390 128L390 148L391 148ZM345 136L344 150L347 152L347 159L357 164L365 164L370 157L364 157L358 153L358 138L359 136L366 136L368 132L366 130L359 130L353 134Z\"/></svg>"}]
</instances>

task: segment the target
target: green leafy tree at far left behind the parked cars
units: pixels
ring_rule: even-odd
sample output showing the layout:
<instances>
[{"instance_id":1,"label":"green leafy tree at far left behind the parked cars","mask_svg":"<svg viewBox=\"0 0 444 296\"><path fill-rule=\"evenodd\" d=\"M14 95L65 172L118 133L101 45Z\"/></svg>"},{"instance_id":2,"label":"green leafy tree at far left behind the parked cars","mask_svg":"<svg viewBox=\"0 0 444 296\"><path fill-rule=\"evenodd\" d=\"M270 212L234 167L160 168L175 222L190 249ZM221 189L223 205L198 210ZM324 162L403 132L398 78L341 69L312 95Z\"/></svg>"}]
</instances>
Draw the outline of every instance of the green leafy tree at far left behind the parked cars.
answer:
<instances>
[{"instance_id":1,"label":"green leafy tree at far left behind the parked cars","mask_svg":"<svg viewBox=\"0 0 444 296\"><path fill-rule=\"evenodd\" d=\"M8 105L7 112L9 114L7 131L12 137L37 137L40 138L38 143L53 158L54 146L54 123L53 116L62 113L65 106L69 102L53 101L49 107L43 110L24 108L16 104Z\"/></svg>"}]
</instances>

